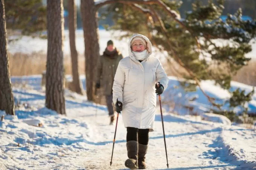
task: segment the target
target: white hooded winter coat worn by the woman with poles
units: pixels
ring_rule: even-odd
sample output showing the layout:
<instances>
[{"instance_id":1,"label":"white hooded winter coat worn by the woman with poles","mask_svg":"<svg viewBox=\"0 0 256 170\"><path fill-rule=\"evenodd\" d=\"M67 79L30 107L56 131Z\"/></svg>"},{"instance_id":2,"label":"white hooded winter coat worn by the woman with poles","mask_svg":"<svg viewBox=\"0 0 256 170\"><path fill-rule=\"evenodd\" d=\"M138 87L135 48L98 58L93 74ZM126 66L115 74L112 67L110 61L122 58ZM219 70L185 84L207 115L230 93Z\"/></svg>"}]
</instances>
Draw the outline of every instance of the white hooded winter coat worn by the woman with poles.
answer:
<instances>
[{"instance_id":1,"label":"white hooded winter coat worn by the woman with poles","mask_svg":"<svg viewBox=\"0 0 256 170\"><path fill-rule=\"evenodd\" d=\"M140 36L147 42L148 56L141 63L131 51L131 40ZM152 44L146 36L136 34L129 41L129 57L120 60L113 84L113 102L123 103L125 127L154 130L156 93L155 83L166 89L168 77L159 59L150 56Z\"/></svg>"}]
</instances>

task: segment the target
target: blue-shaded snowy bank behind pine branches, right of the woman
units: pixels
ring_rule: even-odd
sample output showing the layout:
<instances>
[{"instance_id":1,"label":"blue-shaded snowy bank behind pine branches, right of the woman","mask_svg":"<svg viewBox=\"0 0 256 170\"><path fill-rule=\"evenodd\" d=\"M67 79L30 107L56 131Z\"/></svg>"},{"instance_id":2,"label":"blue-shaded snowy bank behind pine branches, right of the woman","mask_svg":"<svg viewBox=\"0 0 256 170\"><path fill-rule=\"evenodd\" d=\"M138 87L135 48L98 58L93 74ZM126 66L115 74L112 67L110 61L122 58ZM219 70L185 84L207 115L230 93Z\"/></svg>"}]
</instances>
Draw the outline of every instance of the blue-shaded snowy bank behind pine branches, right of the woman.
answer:
<instances>
[{"instance_id":1,"label":"blue-shaded snowy bank behind pine branches, right of the woman","mask_svg":"<svg viewBox=\"0 0 256 170\"><path fill-rule=\"evenodd\" d=\"M212 104L208 101L207 97L203 94L200 88L197 87L195 92L185 92L183 87L181 87L180 80L176 77L169 77L168 92L163 94L163 101L167 103L169 101L175 102L174 107L165 107L166 110L176 112L179 114L189 114L189 109L184 108L184 106L193 107L193 113L204 113L209 112L210 109L214 109ZM206 80L201 81L201 88L204 92L212 98L216 99L216 103L224 104L230 98L230 93L227 90L216 86L213 81ZM245 93L251 92L253 86L248 86L242 83L232 81L230 91L236 89L245 90ZM225 110L230 110L229 103L226 103L223 107ZM216 109L216 108L215 108ZM242 110L240 107L236 107L234 111L237 114L241 114ZM252 100L248 103L248 113L256 113L256 94L254 93Z\"/></svg>"}]
</instances>

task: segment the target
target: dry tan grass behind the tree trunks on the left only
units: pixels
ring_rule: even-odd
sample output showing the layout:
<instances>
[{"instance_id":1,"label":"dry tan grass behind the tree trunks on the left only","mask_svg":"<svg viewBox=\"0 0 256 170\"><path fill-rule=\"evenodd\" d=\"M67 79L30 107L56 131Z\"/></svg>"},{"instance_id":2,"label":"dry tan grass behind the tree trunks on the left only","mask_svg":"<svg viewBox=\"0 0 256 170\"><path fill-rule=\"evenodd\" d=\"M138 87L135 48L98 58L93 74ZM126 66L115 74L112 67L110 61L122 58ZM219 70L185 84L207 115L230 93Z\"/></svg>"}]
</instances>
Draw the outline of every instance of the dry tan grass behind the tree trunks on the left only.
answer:
<instances>
[{"instance_id":1,"label":"dry tan grass behind the tree trunks on the left only","mask_svg":"<svg viewBox=\"0 0 256 170\"><path fill-rule=\"evenodd\" d=\"M46 54L32 53L9 54L9 69L11 76L42 74L46 70ZM78 59L78 71L85 74L85 59L83 55ZM66 74L72 74L70 56L64 56L64 68Z\"/></svg>"}]
</instances>

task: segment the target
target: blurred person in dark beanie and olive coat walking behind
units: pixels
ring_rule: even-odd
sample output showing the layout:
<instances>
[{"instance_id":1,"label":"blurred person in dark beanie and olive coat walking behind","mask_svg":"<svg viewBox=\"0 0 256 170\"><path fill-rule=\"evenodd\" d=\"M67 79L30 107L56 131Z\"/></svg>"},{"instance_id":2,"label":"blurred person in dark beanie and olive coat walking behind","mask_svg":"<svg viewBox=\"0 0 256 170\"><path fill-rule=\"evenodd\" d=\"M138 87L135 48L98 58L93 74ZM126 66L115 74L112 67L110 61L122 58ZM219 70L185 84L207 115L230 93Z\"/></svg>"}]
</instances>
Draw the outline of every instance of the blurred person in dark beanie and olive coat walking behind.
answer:
<instances>
[{"instance_id":1,"label":"blurred person in dark beanie and olive coat walking behind","mask_svg":"<svg viewBox=\"0 0 256 170\"><path fill-rule=\"evenodd\" d=\"M96 67L96 89L102 88L103 95L105 95L108 115L110 116L110 124L114 121L114 109L112 105L113 91L112 86L114 76L119 61L123 59L122 54L114 47L112 40L107 42L107 48L103 55L99 57Z\"/></svg>"}]
</instances>

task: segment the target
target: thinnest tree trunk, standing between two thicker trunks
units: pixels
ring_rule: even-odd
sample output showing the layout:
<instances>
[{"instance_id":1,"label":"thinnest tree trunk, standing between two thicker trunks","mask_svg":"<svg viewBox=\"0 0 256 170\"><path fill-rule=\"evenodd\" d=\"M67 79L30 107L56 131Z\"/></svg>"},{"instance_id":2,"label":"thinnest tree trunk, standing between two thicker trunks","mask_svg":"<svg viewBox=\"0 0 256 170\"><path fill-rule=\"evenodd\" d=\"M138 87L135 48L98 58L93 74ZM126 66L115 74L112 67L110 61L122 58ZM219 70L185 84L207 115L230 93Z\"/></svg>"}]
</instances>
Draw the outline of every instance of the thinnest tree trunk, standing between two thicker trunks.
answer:
<instances>
[{"instance_id":1,"label":"thinnest tree trunk, standing between two thicker trunks","mask_svg":"<svg viewBox=\"0 0 256 170\"><path fill-rule=\"evenodd\" d=\"M69 0L69 44L72 62L72 90L78 94L83 94L80 86L78 73L78 53L76 51L76 3Z\"/></svg>"}]
</instances>

